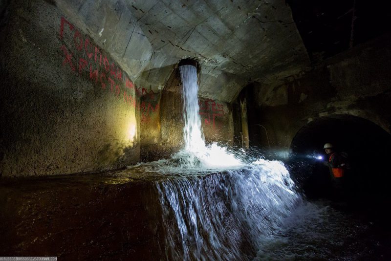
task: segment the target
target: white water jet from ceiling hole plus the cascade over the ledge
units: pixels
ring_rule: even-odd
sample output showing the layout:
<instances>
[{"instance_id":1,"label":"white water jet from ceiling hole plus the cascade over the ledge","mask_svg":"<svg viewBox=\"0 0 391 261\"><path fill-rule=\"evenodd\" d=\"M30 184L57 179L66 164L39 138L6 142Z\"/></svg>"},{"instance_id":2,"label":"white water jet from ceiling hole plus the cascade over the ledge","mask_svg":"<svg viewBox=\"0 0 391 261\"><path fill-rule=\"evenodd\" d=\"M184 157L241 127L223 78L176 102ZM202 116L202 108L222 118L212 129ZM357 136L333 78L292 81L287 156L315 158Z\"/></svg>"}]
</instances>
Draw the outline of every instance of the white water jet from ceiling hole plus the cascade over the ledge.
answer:
<instances>
[{"instance_id":1,"label":"white water jet from ceiling hole plus the cascade over the ledge","mask_svg":"<svg viewBox=\"0 0 391 261\"><path fill-rule=\"evenodd\" d=\"M180 66L185 146L168 160L144 164L156 181L168 260L247 260L303 204L279 161L246 162L201 131L196 68ZM140 167L140 165L138 165Z\"/></svg>"}]
</instances>

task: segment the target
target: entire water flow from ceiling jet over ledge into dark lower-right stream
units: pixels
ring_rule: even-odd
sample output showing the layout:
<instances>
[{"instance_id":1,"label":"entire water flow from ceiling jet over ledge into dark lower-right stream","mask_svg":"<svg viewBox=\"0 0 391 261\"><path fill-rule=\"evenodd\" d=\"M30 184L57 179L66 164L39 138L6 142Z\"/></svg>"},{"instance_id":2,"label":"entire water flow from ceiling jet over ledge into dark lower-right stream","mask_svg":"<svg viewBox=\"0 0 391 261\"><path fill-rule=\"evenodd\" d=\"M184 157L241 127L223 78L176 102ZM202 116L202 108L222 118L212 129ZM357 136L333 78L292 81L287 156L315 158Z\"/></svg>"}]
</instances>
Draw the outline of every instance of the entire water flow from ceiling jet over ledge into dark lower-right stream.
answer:
<instances>
[{"instance_id":1,"label":"entire water flow from ceiling jet over ledge into dark lower-right stream","mask_svg":"<svg viewBox=\"0 0 391 261\"><path fill-rule=\"evenodd\" d=\"M168 160L129 169L164 176L158 191L162 259L386 260L363 223L297 192L280 161L245 160L205 145L198 114L196 68L180 66L184 148ZM379 250L382 251L382 250ZM374 258L378 257L378 258Z\"/></svg>"}]
</instances>

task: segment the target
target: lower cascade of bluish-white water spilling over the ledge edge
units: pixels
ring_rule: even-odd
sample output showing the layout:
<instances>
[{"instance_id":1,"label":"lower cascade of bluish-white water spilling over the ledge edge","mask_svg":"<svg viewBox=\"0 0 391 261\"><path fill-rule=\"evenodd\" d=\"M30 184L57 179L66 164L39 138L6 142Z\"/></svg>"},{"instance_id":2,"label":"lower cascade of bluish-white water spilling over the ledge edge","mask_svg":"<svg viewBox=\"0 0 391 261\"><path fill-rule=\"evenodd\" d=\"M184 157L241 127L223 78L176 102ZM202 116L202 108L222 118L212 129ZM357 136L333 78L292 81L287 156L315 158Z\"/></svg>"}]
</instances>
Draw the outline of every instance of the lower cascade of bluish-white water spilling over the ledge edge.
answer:
<instances>
[{"instance_id":1,"label":"lower cascade of bluish-white water spilling over the ledge edge","mask_svg":"<svg viewBox=\"0 0 391 261\"><path fill-rule=\"evenodd\" d=\"M250 260L302 201L277 161L156 186L168 260Z\"/></svg>"}]
</instances>

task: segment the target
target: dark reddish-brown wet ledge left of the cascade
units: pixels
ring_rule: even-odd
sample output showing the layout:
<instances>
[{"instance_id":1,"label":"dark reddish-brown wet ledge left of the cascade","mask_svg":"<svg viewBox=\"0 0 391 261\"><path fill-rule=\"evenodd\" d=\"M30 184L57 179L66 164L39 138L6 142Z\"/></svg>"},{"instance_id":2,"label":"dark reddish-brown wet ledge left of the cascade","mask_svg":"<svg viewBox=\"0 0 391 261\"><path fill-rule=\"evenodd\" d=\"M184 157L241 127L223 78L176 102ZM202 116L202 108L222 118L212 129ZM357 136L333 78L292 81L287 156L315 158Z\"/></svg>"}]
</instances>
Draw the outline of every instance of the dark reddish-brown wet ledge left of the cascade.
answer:
<instances>
[{"instance_id":1,"label":"dark reddish-brown wet ledge left of the cascade","mask_svg":"<svg viewBox=\"0 0 391 261\"><path fill-rule=\"evenodd\" d=\"M123 173L2 179L0 255L158 260L158 178Z\"/></svg>"}]
</instances>

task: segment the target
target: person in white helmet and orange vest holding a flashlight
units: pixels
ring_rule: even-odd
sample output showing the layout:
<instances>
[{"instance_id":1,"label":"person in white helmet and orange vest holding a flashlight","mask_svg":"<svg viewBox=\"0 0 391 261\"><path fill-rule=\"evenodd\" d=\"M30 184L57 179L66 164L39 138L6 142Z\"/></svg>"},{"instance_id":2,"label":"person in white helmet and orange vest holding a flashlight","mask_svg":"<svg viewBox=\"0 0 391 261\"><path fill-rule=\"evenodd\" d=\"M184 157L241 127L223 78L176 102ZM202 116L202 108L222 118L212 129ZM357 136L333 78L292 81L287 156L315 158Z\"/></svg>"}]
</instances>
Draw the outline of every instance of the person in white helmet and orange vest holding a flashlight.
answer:
<instances>
[{"instance_id":1,"label":"person in white helmet and orange vest holding a flashlight","mask_svg":"<svg viewBox=\"0 0 391 261\"><path fill-rule=\"evenodd\" d=\"M338 152L331 143L323 147L327 154L325 165L328 166L331 177L334 199L346 199L346 175L350 168L348 156L345 152Z\"/></svg>"}]
</instances>

